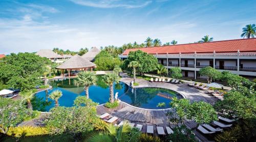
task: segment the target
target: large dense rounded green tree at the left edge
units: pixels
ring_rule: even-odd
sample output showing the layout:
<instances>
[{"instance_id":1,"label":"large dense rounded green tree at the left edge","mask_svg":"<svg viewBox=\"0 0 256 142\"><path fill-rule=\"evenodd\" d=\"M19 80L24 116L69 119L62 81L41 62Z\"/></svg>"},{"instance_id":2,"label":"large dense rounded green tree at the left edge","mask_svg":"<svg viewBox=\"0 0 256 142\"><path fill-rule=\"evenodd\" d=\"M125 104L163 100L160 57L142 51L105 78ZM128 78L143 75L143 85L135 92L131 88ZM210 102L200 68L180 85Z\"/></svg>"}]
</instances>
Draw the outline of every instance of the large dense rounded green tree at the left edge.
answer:
<instances>
[{"instance_id":1,"label":"large dense rounded green tree at the left edge","mask_svg":"<svg viewBox=\"0 0 256 142\"><path fill-rule=\"evenodd\" d=\"M33 53L12 53L0 62L0 82L21 90L32 89L40 84L39 77L50 64L49 59Z\"/></svg>"}]
</instances>

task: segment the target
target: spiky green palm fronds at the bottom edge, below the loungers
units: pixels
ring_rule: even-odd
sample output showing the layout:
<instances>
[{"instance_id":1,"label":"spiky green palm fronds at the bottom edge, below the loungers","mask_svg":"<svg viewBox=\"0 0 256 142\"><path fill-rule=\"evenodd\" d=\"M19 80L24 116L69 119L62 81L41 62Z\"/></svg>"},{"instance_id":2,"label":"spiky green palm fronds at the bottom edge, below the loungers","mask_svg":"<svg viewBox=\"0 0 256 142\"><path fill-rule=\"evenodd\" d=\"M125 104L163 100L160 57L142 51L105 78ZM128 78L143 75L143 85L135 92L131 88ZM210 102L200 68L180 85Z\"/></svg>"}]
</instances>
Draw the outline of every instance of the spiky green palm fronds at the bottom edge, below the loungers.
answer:
<instances>
[{"instance_id":1,"label":"spiky green palm fronds at the bottom edge, below the loungers","mask_svg":"<svg viewBox=\"0 0 256 142\"><path fill-rule=\"evenodd\" d=\"M129 136L129 133L132 131L131 126L127 121L124 121L123 125L118 127L112 124L106 126L105 131L94 134L88 139L90 142L98 141L113 141L113 142L130 142L138 141L140 132L134 132L132 136Z\"/></svg>"}]
</instances>

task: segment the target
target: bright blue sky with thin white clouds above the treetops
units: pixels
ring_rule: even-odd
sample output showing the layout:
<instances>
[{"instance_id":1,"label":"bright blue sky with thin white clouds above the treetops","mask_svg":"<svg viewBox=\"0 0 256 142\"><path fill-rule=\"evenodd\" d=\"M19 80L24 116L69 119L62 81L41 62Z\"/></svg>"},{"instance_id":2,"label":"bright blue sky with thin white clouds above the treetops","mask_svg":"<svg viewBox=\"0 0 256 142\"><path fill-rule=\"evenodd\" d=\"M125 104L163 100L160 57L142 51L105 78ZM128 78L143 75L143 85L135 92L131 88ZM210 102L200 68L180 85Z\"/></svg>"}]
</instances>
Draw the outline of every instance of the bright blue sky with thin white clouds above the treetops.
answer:
<instances>
[{"instance_id":1,"label":"bright blue sky with thin white clouds above the treetops","mask_svg":"<svg viewBox=\"0 0 256 142\"><path fill-rule=\"evenodd\" d=\"M256 4L243 0L0 1L0 54L60 48L241 38L256 23Z\"/></svg>"}]
</instances>

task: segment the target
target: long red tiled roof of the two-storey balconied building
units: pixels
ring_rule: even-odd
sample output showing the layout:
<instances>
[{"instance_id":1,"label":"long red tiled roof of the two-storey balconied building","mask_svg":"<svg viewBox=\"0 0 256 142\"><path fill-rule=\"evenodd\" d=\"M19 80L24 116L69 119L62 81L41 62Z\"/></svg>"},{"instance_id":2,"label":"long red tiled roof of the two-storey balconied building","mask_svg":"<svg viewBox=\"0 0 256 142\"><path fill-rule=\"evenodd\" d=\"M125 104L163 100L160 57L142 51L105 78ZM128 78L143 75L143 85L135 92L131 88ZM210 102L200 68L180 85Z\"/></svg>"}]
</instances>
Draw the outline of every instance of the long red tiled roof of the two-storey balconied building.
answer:
<instances>
[{"instance_id":1,"label":"long red tiled roof of the two-storey balconied building","mask_svg":"<svg viewBox=\"0 0 256 142\"><path fill-rule=\"evenodd\" d=\"M256 38L250 39L233 39L223 41L212 41L205 43L188 43L160 46L153 48L128 49L123 55L129 54L130 51L141 50L148 54L179 54L179 53L226 53L226 52L256 52Z\"/></svg>"}]
</instances>

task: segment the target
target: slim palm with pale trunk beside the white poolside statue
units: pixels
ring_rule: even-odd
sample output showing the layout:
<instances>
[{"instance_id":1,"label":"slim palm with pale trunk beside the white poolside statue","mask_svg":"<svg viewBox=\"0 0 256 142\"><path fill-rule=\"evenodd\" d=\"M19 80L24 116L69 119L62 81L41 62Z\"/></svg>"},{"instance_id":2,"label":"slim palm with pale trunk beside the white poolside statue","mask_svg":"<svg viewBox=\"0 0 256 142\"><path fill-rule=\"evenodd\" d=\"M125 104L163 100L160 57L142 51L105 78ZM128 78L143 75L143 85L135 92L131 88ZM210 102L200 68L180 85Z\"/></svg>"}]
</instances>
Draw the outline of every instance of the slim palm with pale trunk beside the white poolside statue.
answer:
<instances>
[{"instance_id":1,"label":"slim palm with pale trunk beside the white poolside statue","mask_svg":"<svg viewBox=\"0 0 256 142\"><path fill-rule=\"evenodd\" d=\"M110 102L114 103L114 82L118 83L119 76L115 73L109 73L103 76L103 81L110 86Z\"/></svg>"}]
</instances>

